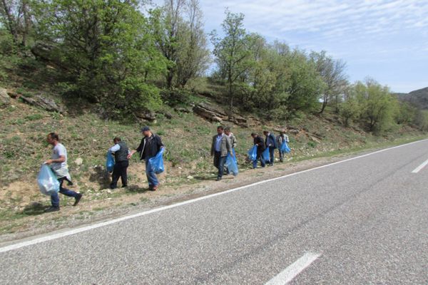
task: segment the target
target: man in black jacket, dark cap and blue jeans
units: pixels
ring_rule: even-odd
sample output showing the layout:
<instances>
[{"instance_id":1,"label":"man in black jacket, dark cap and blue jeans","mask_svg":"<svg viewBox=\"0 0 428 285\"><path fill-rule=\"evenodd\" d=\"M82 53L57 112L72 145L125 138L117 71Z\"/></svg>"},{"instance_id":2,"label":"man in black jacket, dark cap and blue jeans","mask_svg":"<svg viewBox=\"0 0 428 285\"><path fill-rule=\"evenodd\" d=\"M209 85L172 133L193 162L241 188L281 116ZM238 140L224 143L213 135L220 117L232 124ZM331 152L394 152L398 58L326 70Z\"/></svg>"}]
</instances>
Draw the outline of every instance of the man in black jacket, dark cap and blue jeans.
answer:
<instances>
[{"instance_id":1,"label":"man in black jacket, dark cap and blue jeans","mask_svg":"<svg viewBox=\"0 0 428 285\"><path fill-rule=\"evenodd\" d=\"M151 133L150 128L147 126L141 129L141 132L143 133L144 137L140 142L140 145L137 147L136 150L131 151L131 153L128 155L128 159L136 152L140 152L140 160L146 161L146 175L147 175L147 181L148 181L148 188L149 190L156 191L159 187L159 181L158 177L156 177L156 173L153 171L153 169L148 165L148 160L151 159L151 157L156 156L156 154L161 150L162 147L164 147L161 137Z\"/></svg>"}]
</instances>

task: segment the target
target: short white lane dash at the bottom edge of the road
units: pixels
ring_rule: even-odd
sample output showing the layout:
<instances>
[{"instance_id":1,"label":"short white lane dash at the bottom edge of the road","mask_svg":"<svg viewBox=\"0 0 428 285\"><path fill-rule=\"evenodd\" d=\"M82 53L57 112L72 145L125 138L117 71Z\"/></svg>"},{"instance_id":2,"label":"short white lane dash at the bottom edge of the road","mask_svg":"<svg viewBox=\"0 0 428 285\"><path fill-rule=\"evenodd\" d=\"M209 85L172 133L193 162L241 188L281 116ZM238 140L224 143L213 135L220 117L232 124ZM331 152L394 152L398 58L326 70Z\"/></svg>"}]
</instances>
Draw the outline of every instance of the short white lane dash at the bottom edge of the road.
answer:
<instances>
[{"instance_id":1,"label":"short white lane dash at the bottom edge of the road","mask_svg":"<svg viewBox=\"0 0 428 285\"><path fill-rule=\"evenodd\" d=\"M297 259L293 264L284 269L280 274L273 277L265 285L285 285L292 281L300 272L305 270L307 266L315 261L321 254L312 254L307 252L305 255Z\"/></svg>"}]
</instances>

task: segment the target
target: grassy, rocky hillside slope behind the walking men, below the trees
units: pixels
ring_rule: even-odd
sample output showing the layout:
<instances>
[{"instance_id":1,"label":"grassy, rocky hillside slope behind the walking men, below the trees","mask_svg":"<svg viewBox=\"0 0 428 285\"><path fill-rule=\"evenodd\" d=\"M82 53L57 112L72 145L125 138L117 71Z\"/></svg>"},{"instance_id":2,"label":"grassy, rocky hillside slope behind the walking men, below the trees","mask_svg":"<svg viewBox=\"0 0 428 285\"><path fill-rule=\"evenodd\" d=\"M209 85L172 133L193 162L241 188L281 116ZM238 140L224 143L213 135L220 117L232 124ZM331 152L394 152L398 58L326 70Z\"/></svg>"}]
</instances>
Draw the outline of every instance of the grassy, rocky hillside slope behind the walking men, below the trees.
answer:
<instances>
[{"instance_id":1,"label":"grassy, rocky hillside slope behind the walking men, below the trees","mask_svg":"<svg viewBox=\"0 0 428 285\"><path fill-rule=\"evenodd\" d=\"M105 190L110 177L104 167L106 150L112 145L113 137L119 135L130 147L135 148L141 140L140 128L147 122L103 120L97 115L96 109L70 103L63 105L68 113L61 115L23 103L19 99L20 90L14 89L12 93L17 93L18 98L11 99L0 113L0 233L24 230L29 220L31 224L41 221L34 218L34 214L41 214L43 206L49 204L49 197L39 193L36 175L41 163L51 155L51 147L46 143L46 134L50 132L59 133L61 142L68 150L68 165L75 182L72 189L84 194L83 202L87 208L83 212L102 209L103 202L107 200L117 201L115 205L120 205L122 202L119 201L130 195L136 199L131 204L148 200L145 193L146 175L143 163L138 162L138 155L132 158L128 169L130 187L127 190ZM27 96L30 93L26 90ZM193 101L204 101L221 109L218 103L207 96L198 95ZM190 106L186 110L191 110ZM162 186L158 195L174 195L178 187L214 180L210 141L218 123L200 118L191 111L185 113L168 106L163 107L163 113L168 113L170 118L158 114L156 122L147 123L155 133L161 135L166 146L166 170L161 175ZM240 115L250 118L251 114ZM411 128L402 128L387 137L375 137L357 126L344 128L330 110L322 116L302 115L302 118L288 122L255 122L258 123L252 128L227 123L238 138L241 173L250 169L250 163L245 157L253 143L250 138L253 131L262 133L263 129L275 130L287 126L292 153L284 165L290 161L373 147L379 143L422 135ZM168 194L163 189L168 189ZM70 199L61 197L61 204L70 204Z\"/></svg>"}]
</instances>

